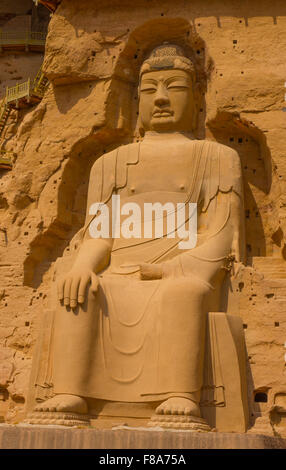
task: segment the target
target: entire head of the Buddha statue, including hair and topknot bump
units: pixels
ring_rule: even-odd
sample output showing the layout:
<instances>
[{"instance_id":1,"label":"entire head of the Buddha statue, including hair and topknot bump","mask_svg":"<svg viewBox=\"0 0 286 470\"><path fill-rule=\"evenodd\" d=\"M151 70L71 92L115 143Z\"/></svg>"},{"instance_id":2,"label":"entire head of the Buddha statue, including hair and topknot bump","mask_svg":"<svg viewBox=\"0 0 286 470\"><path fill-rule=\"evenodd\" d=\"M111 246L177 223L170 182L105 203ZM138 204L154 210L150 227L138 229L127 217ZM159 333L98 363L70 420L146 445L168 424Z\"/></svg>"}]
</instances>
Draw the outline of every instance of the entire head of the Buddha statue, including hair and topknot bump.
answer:
<instances>
[{"instance_id":1,"label":"entire head of the Buddha statue, including hair and topknot bump","mask_svg":"<svg viewBox=\"0 0 286 470\"><path fill-rule=\"evenodd\" d=\"M195 127L195 70L181 47L153 49L140 70L139 115L144 131L190 132Z\"/></svg>"}]
</instances>

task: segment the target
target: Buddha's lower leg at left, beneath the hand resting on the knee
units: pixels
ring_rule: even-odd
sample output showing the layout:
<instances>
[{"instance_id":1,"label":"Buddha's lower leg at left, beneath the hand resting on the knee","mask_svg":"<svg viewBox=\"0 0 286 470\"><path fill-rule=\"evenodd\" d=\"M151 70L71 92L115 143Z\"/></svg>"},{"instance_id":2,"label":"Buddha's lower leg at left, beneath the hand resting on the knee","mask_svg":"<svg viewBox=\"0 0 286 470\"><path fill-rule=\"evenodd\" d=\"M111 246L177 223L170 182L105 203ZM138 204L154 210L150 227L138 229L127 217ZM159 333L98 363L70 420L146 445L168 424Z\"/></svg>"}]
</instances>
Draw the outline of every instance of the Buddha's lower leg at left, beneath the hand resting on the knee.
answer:
<instances>
[{"instance_id":1,"label":"Buddha's lower leg at left, beneath the hand resting on the knee","mask_svg":"<svg viewBox=\"0 0 286 470\"><path fill-rule=\"evenodd\" d=\"M57 303L54 325L53 383L56 395L35 411L88 412L88 388L92 347L97 334L99 295L90 289L83 305L75 309Z\"/></svg>"}]
</instances>

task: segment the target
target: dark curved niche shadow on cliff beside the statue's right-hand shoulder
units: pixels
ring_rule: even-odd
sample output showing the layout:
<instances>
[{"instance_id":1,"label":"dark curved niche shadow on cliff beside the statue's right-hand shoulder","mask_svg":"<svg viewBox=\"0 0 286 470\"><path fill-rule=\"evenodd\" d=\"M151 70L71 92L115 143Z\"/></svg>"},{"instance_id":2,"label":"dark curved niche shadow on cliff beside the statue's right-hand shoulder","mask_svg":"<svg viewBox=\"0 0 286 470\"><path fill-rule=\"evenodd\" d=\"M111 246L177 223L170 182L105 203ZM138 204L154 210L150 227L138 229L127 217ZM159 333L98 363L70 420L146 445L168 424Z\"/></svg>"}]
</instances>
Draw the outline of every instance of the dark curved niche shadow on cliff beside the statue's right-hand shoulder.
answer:
<instances>
[{"instance_id":1,"label":"dark curved niche shadow on cliff beside the statue's right-hand shoulder","mask_svg":"<svg viewBox=\"0 0 286 470\"><path fill-rule=\"evenodd\" d=\"M246 257L266 256L265 226L276 226L268 211L272 159L266 137L252 122L242 119L239 113L217 112L207 127L212 138L232 147L240 156L244 183Z\"/></svg>"}]
</instances>

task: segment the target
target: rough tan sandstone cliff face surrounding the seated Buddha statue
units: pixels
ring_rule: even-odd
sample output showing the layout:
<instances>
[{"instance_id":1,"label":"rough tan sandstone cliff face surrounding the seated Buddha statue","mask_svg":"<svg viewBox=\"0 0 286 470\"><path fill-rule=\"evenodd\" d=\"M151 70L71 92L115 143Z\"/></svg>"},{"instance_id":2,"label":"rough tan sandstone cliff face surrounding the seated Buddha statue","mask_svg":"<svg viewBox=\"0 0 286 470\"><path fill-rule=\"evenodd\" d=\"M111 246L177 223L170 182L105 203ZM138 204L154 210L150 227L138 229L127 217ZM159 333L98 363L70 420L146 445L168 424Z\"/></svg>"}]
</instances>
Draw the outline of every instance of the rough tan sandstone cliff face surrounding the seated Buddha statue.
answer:
<instances>
[{"instance_id":1,"label":"rough tan sandstone cliff face surrounding the seated Buddha statue","mask_svg":"<svg viewBox=\"0 0 286 470\"><path fill-rule=\"evenodd\" d=\"M50 87L11 132L7 148L17 160L1 173L0 415L7 422L23 416L53 265L83 225L90 167L140 138L138 71L152 47L172 40L195 51L205 83L198 137L241 158L248 262L225 307L244 323L252 431L286 434L285 25L283 0L62 0L44 57Z\"/></svg>"}]
</instances>

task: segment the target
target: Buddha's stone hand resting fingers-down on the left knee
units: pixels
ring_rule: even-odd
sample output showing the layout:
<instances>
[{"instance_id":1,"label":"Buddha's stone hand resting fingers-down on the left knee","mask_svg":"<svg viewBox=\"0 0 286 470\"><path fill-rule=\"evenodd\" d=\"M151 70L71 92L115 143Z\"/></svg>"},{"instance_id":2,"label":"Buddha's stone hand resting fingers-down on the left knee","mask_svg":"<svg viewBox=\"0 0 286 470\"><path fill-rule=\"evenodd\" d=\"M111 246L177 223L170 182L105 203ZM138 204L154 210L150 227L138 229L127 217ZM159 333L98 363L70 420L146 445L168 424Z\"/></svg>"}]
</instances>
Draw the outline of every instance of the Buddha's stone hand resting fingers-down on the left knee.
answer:
<instances>
[{"instance_id":1,"label":"Buddha's stone hand resting fingers-down on the left knee","mask_svg":"<svg viewBox=\"0 0 286 470\"><path fill-rule=\"evenodd\" d=\"M86 288L91 284L91 291L95 294L98 289L98 277L91 270L80 271L72 269L57 283L58 299L64 301L65 306L75 308L85 300Z\"/></svg>"}]
</instances>

